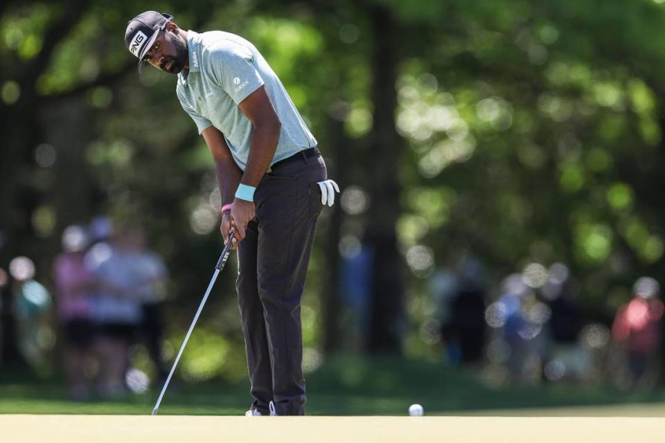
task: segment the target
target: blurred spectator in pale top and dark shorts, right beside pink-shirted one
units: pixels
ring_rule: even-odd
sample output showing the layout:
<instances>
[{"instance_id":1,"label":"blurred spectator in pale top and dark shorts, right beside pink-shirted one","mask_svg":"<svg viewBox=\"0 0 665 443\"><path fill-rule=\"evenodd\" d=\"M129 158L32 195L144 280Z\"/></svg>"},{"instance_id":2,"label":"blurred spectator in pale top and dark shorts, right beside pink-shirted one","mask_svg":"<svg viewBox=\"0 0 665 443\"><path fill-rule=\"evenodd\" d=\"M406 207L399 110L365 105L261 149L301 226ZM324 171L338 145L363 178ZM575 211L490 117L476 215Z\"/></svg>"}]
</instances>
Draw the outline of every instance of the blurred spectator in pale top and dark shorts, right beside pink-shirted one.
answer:
<instances>
[{"instance_id":1,"label":"blurred spectator in pale top and dark shorts, right beside pink-shirted one","mask_svg":"<svg viewBox=\"0 0 665 443\"><path fill-rule=\"evenodd\" d=\"M100 242L86 255L87 265L99 280L93 313L99 331L98 390L103 397L125 393L127 350L141 321L133 253L132 239L121 229L112 235L110 244Z\"/></svg>"}]
</instances>

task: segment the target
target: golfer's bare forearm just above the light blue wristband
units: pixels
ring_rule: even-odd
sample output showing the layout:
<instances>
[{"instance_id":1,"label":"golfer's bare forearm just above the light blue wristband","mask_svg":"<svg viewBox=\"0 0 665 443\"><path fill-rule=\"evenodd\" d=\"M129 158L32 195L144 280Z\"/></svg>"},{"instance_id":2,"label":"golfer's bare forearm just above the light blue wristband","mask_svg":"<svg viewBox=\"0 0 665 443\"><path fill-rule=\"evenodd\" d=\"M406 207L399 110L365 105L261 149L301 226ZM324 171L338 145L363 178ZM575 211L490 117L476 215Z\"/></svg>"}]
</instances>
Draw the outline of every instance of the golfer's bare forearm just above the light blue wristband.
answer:
<instances>
[{"instance_id":1,"label":"golfer's bare forearm just above the light blue wristband","mask_svg":"<svg viewBox=\"0 0 665 443\"><path fill-rule=\"evenodd\" d=\"M247 166L245 167L245 173L242 174L242 184L255 188L258 186L275 155L280 127L279 122L274 125L254 127L249 145Z\"/></svg>"}]
</instances>

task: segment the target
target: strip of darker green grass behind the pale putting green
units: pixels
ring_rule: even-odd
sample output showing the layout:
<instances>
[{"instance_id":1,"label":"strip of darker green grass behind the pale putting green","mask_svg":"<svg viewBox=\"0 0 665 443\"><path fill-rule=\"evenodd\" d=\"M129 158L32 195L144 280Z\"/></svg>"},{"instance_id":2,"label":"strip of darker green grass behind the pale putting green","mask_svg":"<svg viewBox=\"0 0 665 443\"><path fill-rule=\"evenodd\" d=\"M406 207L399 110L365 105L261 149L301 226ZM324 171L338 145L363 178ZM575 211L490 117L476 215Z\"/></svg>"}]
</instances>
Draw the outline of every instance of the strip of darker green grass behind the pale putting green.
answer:
<instances>
[{"instance_id":1,"label":"strip of darker green grass behind the pale putting green","mask_svg":"<svg viewBox=\"0 0 665 443\"><path fill-rule=\"evenodd\" d=\"M8 381L9 380L9 381ZM475 374L423 361L339 356L308 374L308 415L405 415L410 404L427 415L475 410L520 410L565 406L656 404L661 388L624 393L603 386L511 386L490 388ZM67 400L53 379L0 374L0 413L149 414L158 390L114 401ZM160 414L238 415L249 407L249 383L172 381Z\"/></svg>"}]
</instances>

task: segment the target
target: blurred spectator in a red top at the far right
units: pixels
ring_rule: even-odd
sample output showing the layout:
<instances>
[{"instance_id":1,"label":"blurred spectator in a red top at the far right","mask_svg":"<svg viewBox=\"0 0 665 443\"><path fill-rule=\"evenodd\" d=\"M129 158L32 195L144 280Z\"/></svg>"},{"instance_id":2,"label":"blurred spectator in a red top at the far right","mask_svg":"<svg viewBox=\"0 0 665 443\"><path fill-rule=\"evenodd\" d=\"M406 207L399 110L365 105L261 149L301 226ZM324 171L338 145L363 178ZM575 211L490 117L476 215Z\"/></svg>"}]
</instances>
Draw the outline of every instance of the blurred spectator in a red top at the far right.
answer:
<instances>
[{"instance_id":1,"label":"blurred spectator in a red top at the far right","mask_svg":"<svg viewBox=\"0 0 665 443\"><path fill-rule=\"evenodd\" d=\"M658 366L663 302L657 297L660 285L642 277L633 287L634 298L619 308L612 325L612 338L623 347L628 359L628 386L648 383Z\"/></svg>"}]
</instances>

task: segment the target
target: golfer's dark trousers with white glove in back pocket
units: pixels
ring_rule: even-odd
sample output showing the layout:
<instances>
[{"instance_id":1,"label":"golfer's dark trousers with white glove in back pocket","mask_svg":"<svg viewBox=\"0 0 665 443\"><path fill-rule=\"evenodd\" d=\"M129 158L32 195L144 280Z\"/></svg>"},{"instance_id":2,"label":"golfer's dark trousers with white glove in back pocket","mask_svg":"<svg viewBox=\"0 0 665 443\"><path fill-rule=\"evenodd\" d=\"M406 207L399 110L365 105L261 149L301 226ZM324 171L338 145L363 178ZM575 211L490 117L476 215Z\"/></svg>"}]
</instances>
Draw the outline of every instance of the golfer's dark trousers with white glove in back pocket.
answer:
<instances>
[{"instance_id":1,"label":"golfer's dark trousers with white glove in back pocket","mask_svg":"<svg viewBox=\"0 0 665 443\"><path fill-rule=\"evenodd\" d=\"M265 174L254 193L256 217L238 247L238 304L245 335L252 408L305 413L300 318L326 163L304 157Z\"/></svg>"}]
</instances>

